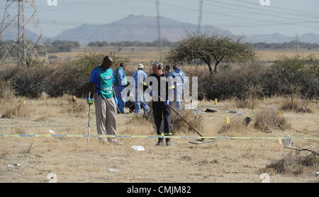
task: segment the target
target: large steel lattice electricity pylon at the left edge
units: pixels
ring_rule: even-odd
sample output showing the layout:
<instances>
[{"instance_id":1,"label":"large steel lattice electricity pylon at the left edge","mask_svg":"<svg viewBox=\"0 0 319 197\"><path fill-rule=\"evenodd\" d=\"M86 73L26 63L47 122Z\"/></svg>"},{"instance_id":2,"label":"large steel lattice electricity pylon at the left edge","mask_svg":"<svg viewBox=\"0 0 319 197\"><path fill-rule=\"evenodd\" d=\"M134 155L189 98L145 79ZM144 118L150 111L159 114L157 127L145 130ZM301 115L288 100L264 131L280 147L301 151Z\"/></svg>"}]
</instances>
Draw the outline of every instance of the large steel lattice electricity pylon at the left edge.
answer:
<instances>
[{"instance_id":1,"label":"large steel lattice electricity pylon at the left edge","mask_svg":"<svg viewBox=\"0 0 319 197\"><path fill-rule=\"evenodd\" d=\"M27 28L34 30L32 41L26 37ZM8 40L7 35L15 39ZM35 61L47 63L47 51L35 0L6 0L0 40L1 62L16 62L24 67L34 64Z\"/></svg>"}]
</instances>

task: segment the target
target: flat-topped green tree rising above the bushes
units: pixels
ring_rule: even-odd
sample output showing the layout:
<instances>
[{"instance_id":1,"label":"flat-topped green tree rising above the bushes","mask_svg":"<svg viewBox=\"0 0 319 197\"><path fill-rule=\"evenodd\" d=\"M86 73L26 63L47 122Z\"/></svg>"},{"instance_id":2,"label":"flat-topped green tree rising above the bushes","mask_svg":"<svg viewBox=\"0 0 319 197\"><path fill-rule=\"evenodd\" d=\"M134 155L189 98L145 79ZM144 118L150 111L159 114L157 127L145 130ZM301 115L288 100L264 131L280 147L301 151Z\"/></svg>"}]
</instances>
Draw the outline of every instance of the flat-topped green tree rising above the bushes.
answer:
<instances>
[{"instance_id":1,"label":"flat-topped green tree rising above the bushes","mask_svg":"<svg viewBox=\"0 0 319 197\"><path fill-rule=\"evenodd\" d=\"M232 35L189 35L168 53L167 61L204 62L213 74L217 72L220 62L255 60L255 53L250 44L241 41L241 37Z\"/></svg>"}]
</instances>

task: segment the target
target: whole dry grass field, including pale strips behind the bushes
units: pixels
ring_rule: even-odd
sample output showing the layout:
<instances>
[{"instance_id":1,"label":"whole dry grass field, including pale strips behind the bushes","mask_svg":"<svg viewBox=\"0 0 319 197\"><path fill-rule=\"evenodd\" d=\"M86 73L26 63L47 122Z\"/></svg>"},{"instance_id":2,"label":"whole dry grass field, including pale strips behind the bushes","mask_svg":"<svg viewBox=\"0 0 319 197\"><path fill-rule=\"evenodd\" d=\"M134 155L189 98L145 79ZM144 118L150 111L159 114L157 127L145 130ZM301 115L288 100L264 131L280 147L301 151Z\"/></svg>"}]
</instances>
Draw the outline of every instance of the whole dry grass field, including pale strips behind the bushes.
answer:
<instances>
[{"instance_id":1,"label":"whole dry grass field, including pale strips behind the bushes","mask_svg":"<svg viewBox=\"0 0 319 197\"><path fill-rule=\"evenodd\" d=\"M57 53L56 62L74 60L79 49ZM102 50L103 52L116 49ZM301 52L319 58L318 51ZM156 48L124 48L121 56L129 59L128 70L142 62L158 58ZM296 55L294 51L257 51L260 60L273 61L279 55ZM192 68L196 69L196 68ZM72 103L72 95L59 98L28 99L8 95L0 98L0 134L86 134L88 106L85 99ZM301 108L301 107L305 108ZM228 137L319 137L319 101L289 98L238 101L203 100L201 111L186 111L204 136ZM96 135L94 106L91 107L91 135ZM303 111L303 109L305 109ZM228 110L241 111L226 113ZM128 108L126 109L128 111ZM172 112L173 113L173 112ZM197 119L194 119L196 116ZM246 126L243 120L250 117ZM199 118L199 119L198 119ZM225 123L225 118L230 123ZM118 135L155 135L152 118L146 120L133 113L117 115ZM173 125L174 126L174 125ZM184 128L177 136L198 136ZM216 140L194 145L186 139L172 139L172 146L157 147L157 139L122 138L123 146L101 144L98 139L71 137L0 137L0 182L47 182L47 175L57 175L57 182L262 182L262 173L270 182L319 182L318 156L308 151L284 148L279 140ZM319 140L294 140L293 147L319 152ZM141 145L145 151L132 149ZM21 167L8 167L21 164ZM112 171L110 169L116 169Z\"/></svg>"}]
</instances>

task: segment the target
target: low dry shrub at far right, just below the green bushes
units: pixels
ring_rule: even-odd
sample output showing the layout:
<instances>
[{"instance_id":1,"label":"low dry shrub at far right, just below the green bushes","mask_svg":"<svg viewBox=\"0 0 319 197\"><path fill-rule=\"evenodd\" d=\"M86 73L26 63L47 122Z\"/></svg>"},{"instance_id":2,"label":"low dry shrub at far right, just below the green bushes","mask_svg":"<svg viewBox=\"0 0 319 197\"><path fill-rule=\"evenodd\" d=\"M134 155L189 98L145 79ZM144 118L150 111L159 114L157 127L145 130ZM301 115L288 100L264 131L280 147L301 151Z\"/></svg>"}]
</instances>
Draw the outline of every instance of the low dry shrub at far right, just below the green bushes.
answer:
<instances>
[{"instance_id":1,"label":"low dry shrub at far right, just below the green bushes","mask_svg":"<svg viewBox=\"0 0 319 197\"><path fill-rule=\"evenodd\" d=\"M301 99L284 99L279 107L282 111L293 111L296 113L312 113L313 111Z\"/></svg>"}]
</instances>

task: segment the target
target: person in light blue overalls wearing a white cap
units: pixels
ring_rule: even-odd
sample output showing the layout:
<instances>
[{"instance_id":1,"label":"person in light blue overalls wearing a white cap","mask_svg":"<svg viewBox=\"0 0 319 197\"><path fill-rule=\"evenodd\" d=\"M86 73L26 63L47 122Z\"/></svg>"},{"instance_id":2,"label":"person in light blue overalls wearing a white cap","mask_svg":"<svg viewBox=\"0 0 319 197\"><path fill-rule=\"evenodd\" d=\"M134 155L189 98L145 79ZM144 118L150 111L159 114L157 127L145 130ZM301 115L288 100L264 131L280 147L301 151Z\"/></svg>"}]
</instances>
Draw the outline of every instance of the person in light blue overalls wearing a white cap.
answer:
<instances>
[{"instance_id":1,"label":"person in light blue overalls wearing a white cap","mask_svg":"<svg viewBox=\"0 0 319 197\"><path fill-rule=\"evenodd\" d=\"M133 79L135 80L135 113L140 114L140 106L142 105L144 114L150 113L150 107L144 98L143 81L146 79L147 74L143 71L144 65L138 64L138 70L133 73ZM141 89L138 89L140 84Z\"/></svg>"}]
</instances>

